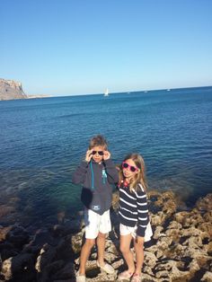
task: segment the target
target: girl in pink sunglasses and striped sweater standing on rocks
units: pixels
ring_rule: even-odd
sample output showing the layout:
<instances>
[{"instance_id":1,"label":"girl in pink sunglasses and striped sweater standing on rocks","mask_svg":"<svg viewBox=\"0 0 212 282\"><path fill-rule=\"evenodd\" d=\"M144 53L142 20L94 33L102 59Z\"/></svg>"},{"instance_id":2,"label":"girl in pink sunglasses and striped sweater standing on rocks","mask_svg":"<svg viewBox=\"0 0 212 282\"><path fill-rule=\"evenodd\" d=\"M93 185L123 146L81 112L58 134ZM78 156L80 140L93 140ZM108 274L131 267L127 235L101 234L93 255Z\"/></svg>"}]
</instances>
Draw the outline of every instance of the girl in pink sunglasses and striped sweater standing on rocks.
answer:
<instances>
[{"instance_id":1,"label":"girl in pink sunglasses and striped sweater standing on rocks","mask_svg":"<svg viewBox=\"0 0 212 282\"><path fill-rule=\"evenodd\" d=\"M146 200L145 163L139 154L128 154L119 170L120 251L128 270L119 274L119 281L138 282L144 262L144 242L152 236ZM137 264L130 251L133 240Z\"/></svg>"}]
</instances>

